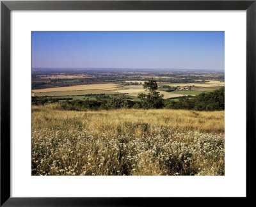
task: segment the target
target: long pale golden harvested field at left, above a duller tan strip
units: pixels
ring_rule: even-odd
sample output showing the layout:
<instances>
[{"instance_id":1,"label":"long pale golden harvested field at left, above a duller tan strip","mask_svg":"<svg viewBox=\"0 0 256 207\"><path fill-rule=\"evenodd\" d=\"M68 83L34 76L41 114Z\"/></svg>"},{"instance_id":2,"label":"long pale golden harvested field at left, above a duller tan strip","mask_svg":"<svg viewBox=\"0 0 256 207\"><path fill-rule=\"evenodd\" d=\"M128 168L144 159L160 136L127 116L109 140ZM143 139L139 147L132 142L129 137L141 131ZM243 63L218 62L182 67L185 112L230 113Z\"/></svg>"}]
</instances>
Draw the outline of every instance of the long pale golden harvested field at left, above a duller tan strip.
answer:
<instances>
[{"instance_id":1,"label":"long pale golden harvested field at left, above a duller tan strip","mask_svg":"<svg viewBox=\"0 0 256 207\"><path fill-rule=\"evenodd\" d=\"M45 88L45 89L35 89L33 93L42 93L42 92L53 92L53 91L83 91L83 90L93 90L101 89L106 91L116 91L121 88L117 84L86 84L78 86L67 86L67 87L58 87L58 88Z\"/></svg>"}]
</instances>

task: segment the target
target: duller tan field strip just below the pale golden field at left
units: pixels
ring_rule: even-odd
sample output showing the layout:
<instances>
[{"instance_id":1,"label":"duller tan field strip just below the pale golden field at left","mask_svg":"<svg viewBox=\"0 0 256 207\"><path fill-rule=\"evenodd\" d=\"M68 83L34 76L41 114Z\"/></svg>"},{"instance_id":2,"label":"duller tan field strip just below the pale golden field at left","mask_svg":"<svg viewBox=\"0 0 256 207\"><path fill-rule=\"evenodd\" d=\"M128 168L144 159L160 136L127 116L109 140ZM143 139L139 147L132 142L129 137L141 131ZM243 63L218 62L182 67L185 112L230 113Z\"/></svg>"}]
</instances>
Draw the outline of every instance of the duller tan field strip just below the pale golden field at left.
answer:
<instances>
[{"instance_id":1,"label":"duller tan field strip just below the pale golden field at left","mask_svg":"<svg viewBox=\"0 0 256 207\"><path fill-rule=\"evenodd\" d=\"M106 91L100 89L83 90L83 91L52 91L52 92L41 92L35 93L35 96L83 96L87 94L118 94L114 91Z\"/></svg>"}]
</instances>

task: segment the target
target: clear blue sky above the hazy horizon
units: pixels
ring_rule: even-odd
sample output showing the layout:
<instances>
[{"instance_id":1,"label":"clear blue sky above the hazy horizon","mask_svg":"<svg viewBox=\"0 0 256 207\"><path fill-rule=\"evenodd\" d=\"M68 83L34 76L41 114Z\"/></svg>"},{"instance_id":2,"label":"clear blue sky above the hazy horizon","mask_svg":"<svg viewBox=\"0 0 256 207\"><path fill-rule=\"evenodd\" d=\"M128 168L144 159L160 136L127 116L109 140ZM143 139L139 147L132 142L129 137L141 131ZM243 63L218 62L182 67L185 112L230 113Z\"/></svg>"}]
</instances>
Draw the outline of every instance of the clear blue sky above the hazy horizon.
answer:
<instances>
[{"instance_id":1,"label":"clear blue sky above the hazy horizon","mask_svg":"<svg viewBox=\"0 0 256 207\"><path fill-rule=\"evenodd\" d=\"M32 32L32 67L224 70L224 32Z\"/></svg>"}]
</instances>

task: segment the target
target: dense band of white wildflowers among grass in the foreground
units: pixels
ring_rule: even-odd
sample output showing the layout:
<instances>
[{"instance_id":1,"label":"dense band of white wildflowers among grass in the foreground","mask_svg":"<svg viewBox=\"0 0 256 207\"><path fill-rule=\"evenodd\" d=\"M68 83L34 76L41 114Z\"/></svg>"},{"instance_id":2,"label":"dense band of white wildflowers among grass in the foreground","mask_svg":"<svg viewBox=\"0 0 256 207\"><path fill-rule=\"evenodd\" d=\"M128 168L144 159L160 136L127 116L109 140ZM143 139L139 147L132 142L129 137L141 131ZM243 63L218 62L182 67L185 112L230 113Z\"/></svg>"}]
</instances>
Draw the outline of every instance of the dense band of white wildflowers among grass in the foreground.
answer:
<instances>
[{"instance_id":1,"label":"dense band of white wildflowers among grass in the foreground","mask_svg":"<svg viewBox=\"0 0 256 207\"><path fill-rule=\"evenodd\" d=\"M33 175L223 175L224 134L157 123L33 128ZM59 127L60 128L60 127Z\"/></svg>"}]
</instances>

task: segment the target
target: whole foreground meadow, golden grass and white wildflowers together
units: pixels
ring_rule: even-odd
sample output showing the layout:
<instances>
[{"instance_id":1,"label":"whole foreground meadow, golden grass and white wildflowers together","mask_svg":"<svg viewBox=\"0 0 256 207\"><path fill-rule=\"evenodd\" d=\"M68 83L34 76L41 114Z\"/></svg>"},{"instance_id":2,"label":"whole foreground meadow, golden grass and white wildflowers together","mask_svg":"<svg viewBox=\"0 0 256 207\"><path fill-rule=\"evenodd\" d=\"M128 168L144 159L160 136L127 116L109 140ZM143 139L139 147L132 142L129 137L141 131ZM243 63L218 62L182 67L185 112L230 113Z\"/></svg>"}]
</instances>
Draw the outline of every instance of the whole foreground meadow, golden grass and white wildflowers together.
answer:
<instances>
[{"instance_id":1,"label":"whole foreground meadow, golden grass and white wildflowers together","mask_svg":"<svg viewBox=\"0 0 256 207\"><path fill-rule=\"evenodd\" d=\"M32 107L33 175L223 175L224 111Z\"/></svg>"}]
</instances>

